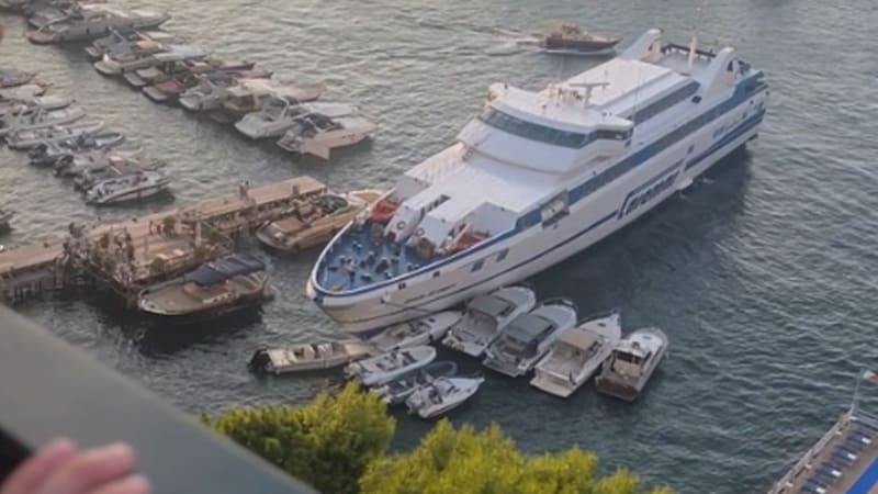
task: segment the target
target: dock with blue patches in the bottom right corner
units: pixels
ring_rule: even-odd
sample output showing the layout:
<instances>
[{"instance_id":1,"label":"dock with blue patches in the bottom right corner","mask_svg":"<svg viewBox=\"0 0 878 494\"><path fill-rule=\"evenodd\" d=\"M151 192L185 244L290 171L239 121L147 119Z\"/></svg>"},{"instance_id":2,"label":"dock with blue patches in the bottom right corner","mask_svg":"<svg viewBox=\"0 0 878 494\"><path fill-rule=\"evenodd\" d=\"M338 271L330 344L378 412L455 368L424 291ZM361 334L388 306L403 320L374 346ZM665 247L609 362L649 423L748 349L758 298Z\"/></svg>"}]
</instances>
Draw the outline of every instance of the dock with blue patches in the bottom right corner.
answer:
<instances>
[{"instance_id":1,"label":"dock with blue patches in the bottom right corner","mask_svg":"<svg viewBox=\"0 0 878 494\"><path fill-rule=\"evenodd\" d=\"M768 494L869 494L876 489L878 418L852 408Z\"/></svg>"}]
</instances>

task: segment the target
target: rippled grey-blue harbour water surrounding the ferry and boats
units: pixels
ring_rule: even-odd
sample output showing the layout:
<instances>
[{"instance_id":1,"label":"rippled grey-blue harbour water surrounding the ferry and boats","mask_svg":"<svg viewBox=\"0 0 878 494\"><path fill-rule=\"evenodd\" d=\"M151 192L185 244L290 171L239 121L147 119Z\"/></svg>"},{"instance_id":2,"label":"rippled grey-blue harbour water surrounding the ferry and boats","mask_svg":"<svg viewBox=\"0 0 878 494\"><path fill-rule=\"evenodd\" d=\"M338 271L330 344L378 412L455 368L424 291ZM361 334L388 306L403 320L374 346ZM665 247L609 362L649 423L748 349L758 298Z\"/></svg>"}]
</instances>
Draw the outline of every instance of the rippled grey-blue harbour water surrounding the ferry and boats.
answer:
<instances>
[{"instance_id":1,"label":"rippled grey-blue harbour water surrounding the ferry and boats","mask_svg":"<svg viewBox=\"0 0 878 494\"><path fill-rule=\"evenodd\" d=\"M123 2L135 5L134 3ZM52 91L166 159L176 203L309 173L338 189L386 187L453 138L495 81L542 87L594 60L510 49L547 19L624 34L650 26L688 41L690 0L155 0L167 29L288 79L325 81L379 123L374 141L329 164L294 161L234 130L150 103L100 77L81 48L29 45L3 19L0 66L37 70ZM571 445L682 493L765 492L846 406L858 369L878 367L878 56L874 0L739 0L709 4L702 40L739 47L772 87L761 137L644 220L532 281L583 314L622 310L656 325L671 356L634 405L586 386L571 400L488 374L452 416L499 423L529 451ZM626 43L623 42L623 44ZM0 243L34 242L94 221L67 184L0 151L0 205L18 212ZM125 217L167 206L104 210ZM260 251L250 247L254 251ZM260 381L252 350L334 338L307 300L316 252L263 255L279 296L260 314L191 330L156 330L105 300L33 302L22 312L185 411L300 403L336 373ZM464 367L474 362L459 359ZM868 391L868 390L864 390ZM878 389L873 390L878 395ZM873 402L876 406L878 403ZM407 447L428 424L401 416Z\"/></svg>"}]
</instances>

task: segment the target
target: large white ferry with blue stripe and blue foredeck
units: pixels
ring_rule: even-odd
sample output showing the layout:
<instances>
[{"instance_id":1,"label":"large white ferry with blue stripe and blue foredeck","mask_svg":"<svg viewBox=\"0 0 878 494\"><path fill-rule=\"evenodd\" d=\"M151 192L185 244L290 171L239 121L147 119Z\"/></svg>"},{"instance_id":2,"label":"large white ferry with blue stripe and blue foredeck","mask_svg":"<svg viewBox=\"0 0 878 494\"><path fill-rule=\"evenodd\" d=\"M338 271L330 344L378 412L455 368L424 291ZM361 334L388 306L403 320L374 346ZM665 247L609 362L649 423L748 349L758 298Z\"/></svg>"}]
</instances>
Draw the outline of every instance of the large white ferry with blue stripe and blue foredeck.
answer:
<instances>
[{"instance_id":1,"label":"large white ferry with blue stripe and blue foredeck","mask_svg":"<svg viewBox=\"0 0 878 494\"><path fill-rule=\"evenodd\" d=\"M308 295L353 333L534 274L637 220L756 136L763 72L650 30L532 92L494 85L458 142L333 239Z\"/></svg>"}]
</instances>

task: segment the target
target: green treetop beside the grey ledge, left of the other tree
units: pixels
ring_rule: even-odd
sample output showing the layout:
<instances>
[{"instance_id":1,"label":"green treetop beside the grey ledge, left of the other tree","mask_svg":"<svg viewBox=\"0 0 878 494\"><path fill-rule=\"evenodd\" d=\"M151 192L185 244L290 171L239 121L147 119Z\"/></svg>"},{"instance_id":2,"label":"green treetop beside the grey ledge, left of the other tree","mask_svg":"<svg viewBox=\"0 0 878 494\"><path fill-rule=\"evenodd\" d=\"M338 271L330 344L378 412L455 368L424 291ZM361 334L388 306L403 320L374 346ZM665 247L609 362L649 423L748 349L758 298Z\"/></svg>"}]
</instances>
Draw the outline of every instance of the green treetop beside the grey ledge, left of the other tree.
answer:
<instances>
[{"instance_id":1,"label":"green treetop beside the grey ledge, left of the other tree","mask_svg":"<svg viewBox=\"0 0 878 494\"><path fill-rule=\"evenodd\" d=\"M383 454L396 422L373 393L348 384L304 406L264 406L202 418L324 494L353 494L367 464Z\"/></svg>"}]
</instances>

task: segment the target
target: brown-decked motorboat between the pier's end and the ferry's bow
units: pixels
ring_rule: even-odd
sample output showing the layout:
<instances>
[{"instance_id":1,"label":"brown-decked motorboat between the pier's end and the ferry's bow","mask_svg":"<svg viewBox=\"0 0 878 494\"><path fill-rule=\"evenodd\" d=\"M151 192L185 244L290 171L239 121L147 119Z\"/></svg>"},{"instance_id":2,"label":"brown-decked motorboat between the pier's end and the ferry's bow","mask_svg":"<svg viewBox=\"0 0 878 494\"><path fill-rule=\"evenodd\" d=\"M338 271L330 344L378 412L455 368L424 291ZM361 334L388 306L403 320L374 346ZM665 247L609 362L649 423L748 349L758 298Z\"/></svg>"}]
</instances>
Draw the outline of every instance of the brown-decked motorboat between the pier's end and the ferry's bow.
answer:
<instances>
[{"instance_id":1,"label":"brown-decked motorboat between the pier's end and the ferry's bow","mask_svg":"<svg viewBox=\"0 0 878 494\"><path fill-rule=\"evenodd\" d=\"M267 247L289 254L323 245L380 195L381 192L367 189L296 200L279 220L259 227L256 238Z\"/></svg>"}]
</instances>

